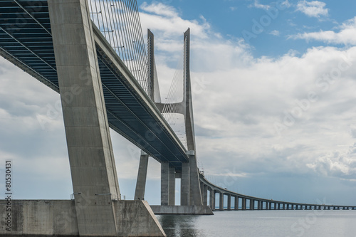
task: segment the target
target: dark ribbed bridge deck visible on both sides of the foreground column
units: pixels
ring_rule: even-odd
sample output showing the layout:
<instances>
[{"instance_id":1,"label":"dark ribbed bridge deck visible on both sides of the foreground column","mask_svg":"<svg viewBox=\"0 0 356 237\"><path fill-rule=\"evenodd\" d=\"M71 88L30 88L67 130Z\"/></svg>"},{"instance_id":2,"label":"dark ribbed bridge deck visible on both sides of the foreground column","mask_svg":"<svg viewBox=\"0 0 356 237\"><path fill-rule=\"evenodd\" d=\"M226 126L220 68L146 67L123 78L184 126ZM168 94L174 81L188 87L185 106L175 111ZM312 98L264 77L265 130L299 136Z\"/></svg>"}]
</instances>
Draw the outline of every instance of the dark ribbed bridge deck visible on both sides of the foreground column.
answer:
<instances>
[{"instance_id":1,"label":"dark ribbed bridge deck visible on both sides of the foreground column","mask_svg":"<svg viewBox=\"0 0 356 237\"><path fill-rule=\"evenodd\" d=\"M93 31L110 127L179 170L186 149L98 28ZM0 55L58 92L47 0L1 1Z\"/></svg>"}]
</instances>

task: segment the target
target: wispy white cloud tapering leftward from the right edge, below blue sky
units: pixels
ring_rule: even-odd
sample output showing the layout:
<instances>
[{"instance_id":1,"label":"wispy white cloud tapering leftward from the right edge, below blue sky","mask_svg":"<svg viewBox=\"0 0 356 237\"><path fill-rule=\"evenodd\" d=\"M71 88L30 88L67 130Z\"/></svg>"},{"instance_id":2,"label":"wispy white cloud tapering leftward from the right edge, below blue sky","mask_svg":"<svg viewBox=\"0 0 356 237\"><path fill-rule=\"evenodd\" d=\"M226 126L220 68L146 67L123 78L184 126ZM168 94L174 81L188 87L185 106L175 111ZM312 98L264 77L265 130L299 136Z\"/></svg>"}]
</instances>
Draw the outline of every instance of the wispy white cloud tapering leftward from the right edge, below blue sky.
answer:
<instances>
[{"instance_id":1,"label":"wispy white cloud tapering leftward from the right edge, below blue sky","mask_svg":"<svg viewBox=\"0 0 356 237\"><path fill-rule=\"evenodd\" d=\"M298 33L290 36L293 39L305 39L307 41L323 41L325 43L337 43L344 45L356 45L356 17L350 19L339 27L340 31L317 31L309 33Z\"/></svg>"}]
</instances>

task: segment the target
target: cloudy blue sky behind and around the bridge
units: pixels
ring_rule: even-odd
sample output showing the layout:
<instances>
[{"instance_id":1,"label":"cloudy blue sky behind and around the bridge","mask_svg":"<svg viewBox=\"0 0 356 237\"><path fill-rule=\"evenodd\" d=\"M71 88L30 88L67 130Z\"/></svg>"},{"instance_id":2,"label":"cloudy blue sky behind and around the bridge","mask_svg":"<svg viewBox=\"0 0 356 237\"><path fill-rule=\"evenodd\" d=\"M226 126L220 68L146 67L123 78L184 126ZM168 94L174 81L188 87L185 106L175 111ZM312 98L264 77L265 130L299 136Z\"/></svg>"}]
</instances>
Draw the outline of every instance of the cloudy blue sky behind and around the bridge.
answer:
<instances>
[{"instance_id":1,"label":"cloudy blue sky behind and around the bridge","mask_svg":"<svg viewBox=\"0 0 356 237\"><path fill-rule=\"evenodd\" d=\"M355 1L137 4L144 34L155 33L162 98L191 29L197 159L207 179L266 199L356 205ZM69 199L59 95L2 58L0 85L0 175L11 159L16 199ZM110 132L120 191L132 199L140 150ZM150 159L150 204L160 202L159 178Z\"/></svg>"}]
</instances>

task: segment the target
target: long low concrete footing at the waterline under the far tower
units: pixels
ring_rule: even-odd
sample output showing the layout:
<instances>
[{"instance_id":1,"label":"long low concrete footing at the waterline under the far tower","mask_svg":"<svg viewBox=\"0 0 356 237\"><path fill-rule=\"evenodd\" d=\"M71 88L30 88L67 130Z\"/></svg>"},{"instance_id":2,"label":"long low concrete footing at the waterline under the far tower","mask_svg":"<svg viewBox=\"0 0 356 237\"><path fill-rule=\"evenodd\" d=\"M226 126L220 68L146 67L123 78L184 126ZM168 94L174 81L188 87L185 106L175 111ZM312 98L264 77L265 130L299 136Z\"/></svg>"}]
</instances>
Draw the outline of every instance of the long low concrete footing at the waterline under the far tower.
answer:
<instances>
[{"instance_id":1,"label":"long low concrete footing at the waterline under the far tower","mask_svg":"<svg viewBox=\"0 0 356 237\"><path fill-rule=\"evenodd\" d=\"M214 215L209 206L151 206L156 215Z\"/></svg>"}]
</instances>

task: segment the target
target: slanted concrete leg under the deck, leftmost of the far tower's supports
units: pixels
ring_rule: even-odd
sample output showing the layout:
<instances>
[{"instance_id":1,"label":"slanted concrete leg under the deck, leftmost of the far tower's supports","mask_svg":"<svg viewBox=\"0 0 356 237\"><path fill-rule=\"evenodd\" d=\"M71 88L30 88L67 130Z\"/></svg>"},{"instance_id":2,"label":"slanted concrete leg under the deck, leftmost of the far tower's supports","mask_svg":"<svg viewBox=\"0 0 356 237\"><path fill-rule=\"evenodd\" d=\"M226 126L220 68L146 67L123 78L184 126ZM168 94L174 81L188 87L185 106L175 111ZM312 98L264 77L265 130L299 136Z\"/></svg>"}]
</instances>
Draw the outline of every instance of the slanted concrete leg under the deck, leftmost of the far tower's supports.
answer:
<instances>
[{"instance_id":1,"label":"slanted concrete leg under the deck, leftmost of the far tower's supports","mask_svg":"<svg viewBox=\"0 0 356 237\"><path fill-rule=\"evenodd\" d=\"M147 179L148 154L141 151L140 165L138 167L136 191L134 200L145 200L145 189Z\"/></svg>"}]
</instances>

